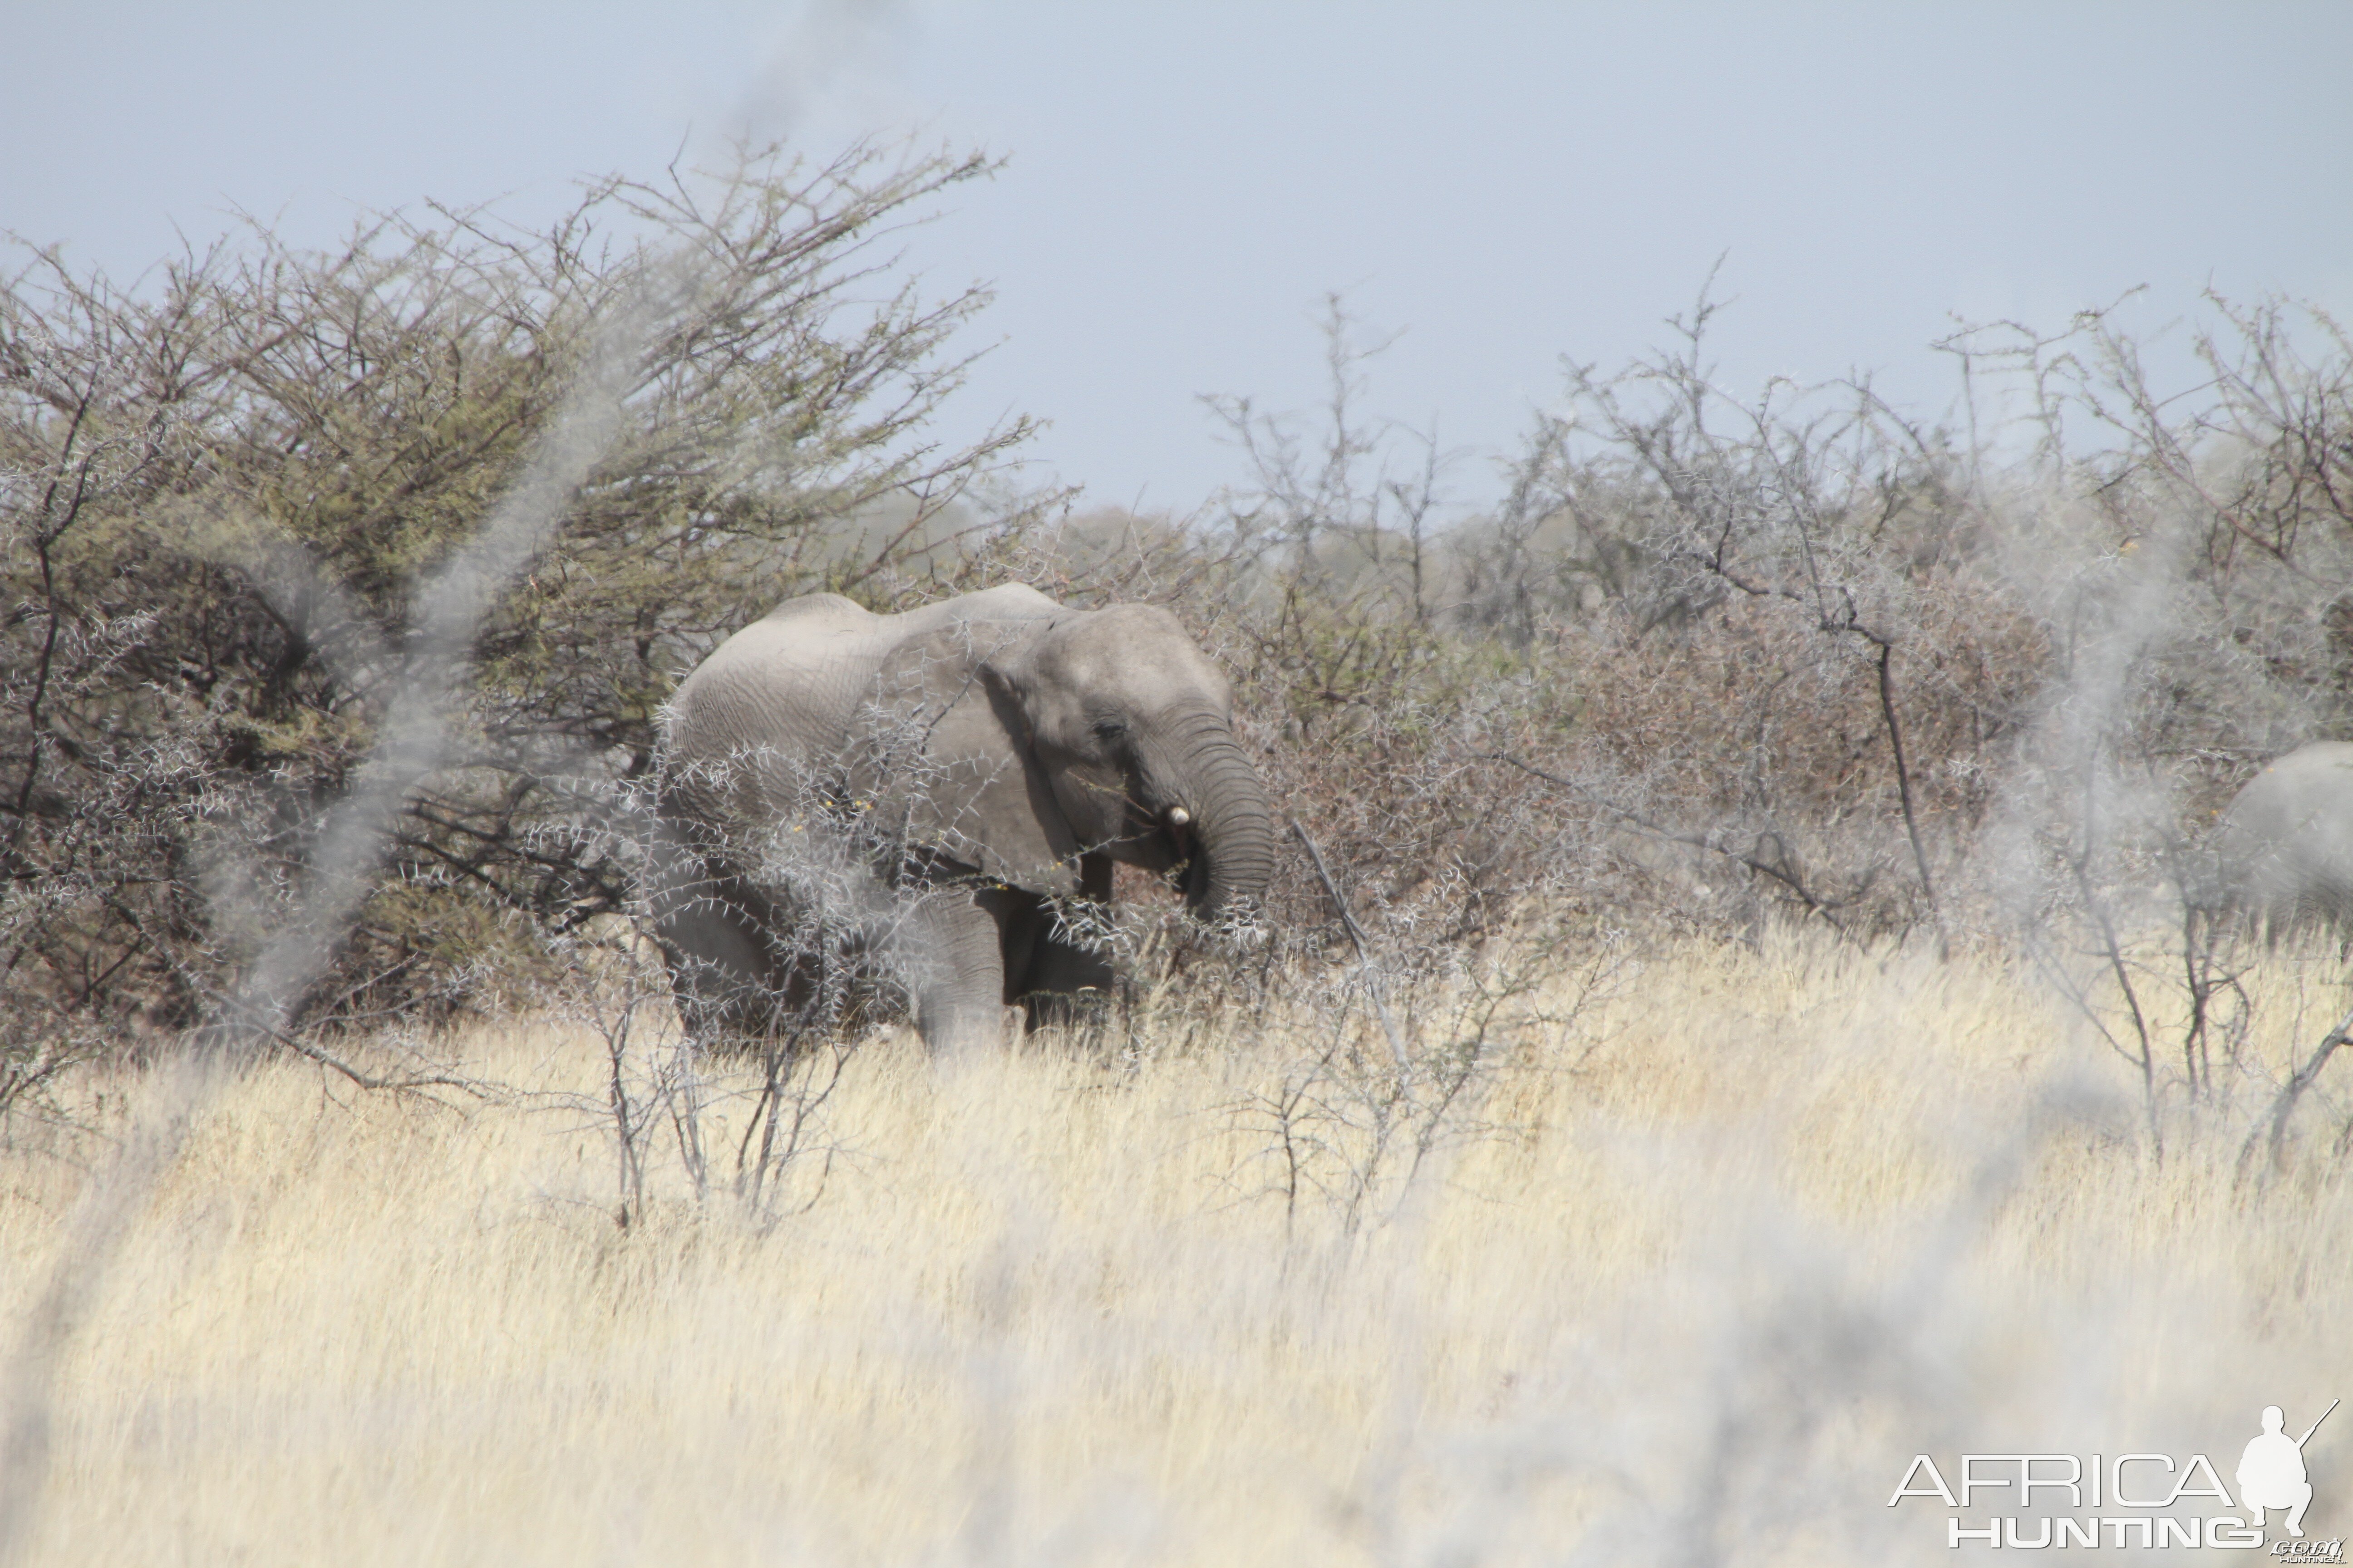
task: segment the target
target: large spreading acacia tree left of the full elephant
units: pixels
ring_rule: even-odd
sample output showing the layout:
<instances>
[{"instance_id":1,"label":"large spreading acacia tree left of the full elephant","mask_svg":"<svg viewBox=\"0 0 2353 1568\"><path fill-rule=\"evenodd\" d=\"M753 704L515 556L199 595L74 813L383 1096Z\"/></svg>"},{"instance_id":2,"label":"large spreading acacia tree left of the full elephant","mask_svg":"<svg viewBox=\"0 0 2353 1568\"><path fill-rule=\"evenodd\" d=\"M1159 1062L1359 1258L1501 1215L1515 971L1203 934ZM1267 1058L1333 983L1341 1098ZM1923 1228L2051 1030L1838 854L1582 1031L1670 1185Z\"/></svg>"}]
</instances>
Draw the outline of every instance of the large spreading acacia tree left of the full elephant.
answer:
<instances>
[{"instance_id":1,"label":"large spreading acacia tree left of the full elephant","mask_svg":"<svg viewBox=\"0 0 2353 1568\"><path fill-rule=\"evenodd\" d=\"M972 498L1028 421L925 425L986 292L929 299L896 252L991 169L753 148L593 183L546 230L433 207L304 252L249 226L132 287L26 252L0 280L7 1032L202 1013L367 757L416 583L626 339L619 425L482 618L447 762L308 1011L447 992L515 917L619 907L593 818L682 670L788 592L889 607L1026 522Z\"/></svg>"}]
</instances>

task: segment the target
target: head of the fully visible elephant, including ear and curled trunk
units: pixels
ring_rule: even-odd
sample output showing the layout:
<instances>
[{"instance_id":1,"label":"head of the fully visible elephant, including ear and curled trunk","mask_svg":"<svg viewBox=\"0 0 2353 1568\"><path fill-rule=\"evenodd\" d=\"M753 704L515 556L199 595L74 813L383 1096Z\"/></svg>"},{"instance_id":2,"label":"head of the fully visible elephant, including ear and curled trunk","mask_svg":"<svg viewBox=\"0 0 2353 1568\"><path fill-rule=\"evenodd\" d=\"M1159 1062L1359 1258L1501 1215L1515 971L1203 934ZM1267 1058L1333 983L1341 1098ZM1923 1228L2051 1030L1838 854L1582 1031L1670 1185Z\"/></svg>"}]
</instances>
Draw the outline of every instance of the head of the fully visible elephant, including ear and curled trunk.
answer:
<instances>
[{"instance_id":1,"label":"head of the fully visible elephant, including ear and curled trunk","mask_svg":"<svg viewBox=\"0 0 2353 1568\"><path fill-rule=\"evenodd\" d=\"M1040 604L936 625L885 663L878 710L904 712L887 693L920 670L936 715L925 778L892 790L927 818L918 835L1038 891L1078 891L1078 858L1101 853L1176 872L1205 919L1257 898L1275 816L1224 672L1165 609Z\"/></svg>"}]
</instances>

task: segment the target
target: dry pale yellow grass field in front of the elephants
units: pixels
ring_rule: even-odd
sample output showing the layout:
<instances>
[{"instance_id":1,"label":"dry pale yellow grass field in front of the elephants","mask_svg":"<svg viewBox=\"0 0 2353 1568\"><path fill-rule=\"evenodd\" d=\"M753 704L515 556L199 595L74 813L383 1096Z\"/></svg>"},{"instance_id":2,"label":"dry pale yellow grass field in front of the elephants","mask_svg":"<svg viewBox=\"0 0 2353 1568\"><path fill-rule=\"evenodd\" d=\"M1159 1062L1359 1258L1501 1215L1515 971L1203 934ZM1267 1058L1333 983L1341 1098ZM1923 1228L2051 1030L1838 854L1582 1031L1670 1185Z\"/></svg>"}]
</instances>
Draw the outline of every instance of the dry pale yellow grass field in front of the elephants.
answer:
<instances>
[{"instance_id":1,"label":"dry pale yellow grass field in front of the elephants","mask_svg":"<svg viewBox=\"0 0 2353 1568\"><path fill-rule=\"evenodd\" d=\"M2273 1065L2327 1025L2292 966L2257 999ZM534 1095L602 1070L553 1025L456 1048ZM28 1561L1948 1561L1887 1507L1913 1453L2228 1474L2264 1403L2353 1394L2325 1150L2233 1185L2217 1114L2155 1157L1993 966L1652 961L1355 1237L1315 1194L1287 1227L1235 1110L1299 1048L875 1044L765 1229L673 1166L616 1229L607 1131L548 1098L259 1070L75 1331ZM101 1152L0 1154L0 1321ZM2353 1422L2308 1455L2341 1533Z\"/></svg>"}]
</instances>

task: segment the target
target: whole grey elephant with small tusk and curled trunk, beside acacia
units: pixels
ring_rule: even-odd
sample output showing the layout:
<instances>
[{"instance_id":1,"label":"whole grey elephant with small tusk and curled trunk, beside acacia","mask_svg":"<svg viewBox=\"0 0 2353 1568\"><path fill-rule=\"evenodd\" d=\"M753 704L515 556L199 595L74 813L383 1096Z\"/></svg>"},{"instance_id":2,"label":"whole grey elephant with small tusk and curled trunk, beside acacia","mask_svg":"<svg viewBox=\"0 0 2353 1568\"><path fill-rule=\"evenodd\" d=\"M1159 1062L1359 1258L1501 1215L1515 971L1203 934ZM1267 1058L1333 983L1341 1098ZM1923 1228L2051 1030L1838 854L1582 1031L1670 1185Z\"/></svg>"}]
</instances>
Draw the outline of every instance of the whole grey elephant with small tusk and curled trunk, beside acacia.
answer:
<instances>
[{"instance_id":1,"label":"whole grey elephant with small tusk and curled trunk, beside acacia","mask_svg":"<svg viewBox=\"0 0 2353 1568\"><path fill-rule=\"evenodd\" d=\"M826 846L831 884L809 875ZM1273 851L1231 686L1165 609L1019 583L904 616L809 595L671 701L649 900L701 1037L774 1032L807 999L812 959L779 933L816 900L906 980L932 1051L960 1051L1009 1004L1038 1023L1111 983L1049 900L1108 900L1120 860L1174 872L1207 919L1266 889Z\"/></svg>"}]
</instances>

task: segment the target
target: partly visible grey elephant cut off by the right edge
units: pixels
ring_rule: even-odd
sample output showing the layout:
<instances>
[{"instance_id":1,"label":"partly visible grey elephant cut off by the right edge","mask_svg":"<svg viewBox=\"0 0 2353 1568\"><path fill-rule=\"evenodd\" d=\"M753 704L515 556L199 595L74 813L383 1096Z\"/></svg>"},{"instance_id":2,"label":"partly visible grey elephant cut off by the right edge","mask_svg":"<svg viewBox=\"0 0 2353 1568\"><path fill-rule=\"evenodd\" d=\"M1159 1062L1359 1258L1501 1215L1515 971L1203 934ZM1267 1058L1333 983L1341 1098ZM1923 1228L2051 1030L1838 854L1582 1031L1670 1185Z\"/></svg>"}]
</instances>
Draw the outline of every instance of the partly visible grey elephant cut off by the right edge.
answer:
<instances>
[{"instance_id":1,"label":"partly visible grey elephant cut off by the right edge","mask_svg":"<svg viewBox=\"0 0 2353 1568\"><path fill-rule=\"evenodd\" d=\"M2353 745L2315 741L2273 757L2214 835L2224 898L2273 936L2353 931Z\"/></svg>"}]
</instances>

